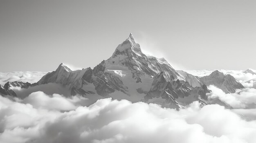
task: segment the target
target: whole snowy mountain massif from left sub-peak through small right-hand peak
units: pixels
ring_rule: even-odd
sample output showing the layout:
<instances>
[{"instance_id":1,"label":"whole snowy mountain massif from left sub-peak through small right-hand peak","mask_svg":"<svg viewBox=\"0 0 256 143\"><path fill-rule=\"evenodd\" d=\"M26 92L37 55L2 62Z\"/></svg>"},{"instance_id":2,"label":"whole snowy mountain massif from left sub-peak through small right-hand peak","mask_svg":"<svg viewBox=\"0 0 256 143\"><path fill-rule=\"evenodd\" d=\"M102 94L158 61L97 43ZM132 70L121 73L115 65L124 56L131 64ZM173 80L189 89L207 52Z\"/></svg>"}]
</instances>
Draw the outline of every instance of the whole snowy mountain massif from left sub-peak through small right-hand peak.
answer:
<instances>
[{"instance_id":1,"label":"whole snowy mountain massif from left sub-peak through small right-hand peak","mask_svg":"<svg viewBox=\"0 0 256 143\"><path fill-rule=\"evenodd\" d=\"M164 58L142 53L132 34L117 46L109 59L93 69L72 71L60 64L55 71L30 86L48 83L68 87L71 95L92 94L132 102L153 102L176 109L193 101L207 104L206 94L210 92L207 86L210 84L229 92L243 88L231 75L211 74L198 78L182 70L177 72Z\"/></svg>"}]
</instances>

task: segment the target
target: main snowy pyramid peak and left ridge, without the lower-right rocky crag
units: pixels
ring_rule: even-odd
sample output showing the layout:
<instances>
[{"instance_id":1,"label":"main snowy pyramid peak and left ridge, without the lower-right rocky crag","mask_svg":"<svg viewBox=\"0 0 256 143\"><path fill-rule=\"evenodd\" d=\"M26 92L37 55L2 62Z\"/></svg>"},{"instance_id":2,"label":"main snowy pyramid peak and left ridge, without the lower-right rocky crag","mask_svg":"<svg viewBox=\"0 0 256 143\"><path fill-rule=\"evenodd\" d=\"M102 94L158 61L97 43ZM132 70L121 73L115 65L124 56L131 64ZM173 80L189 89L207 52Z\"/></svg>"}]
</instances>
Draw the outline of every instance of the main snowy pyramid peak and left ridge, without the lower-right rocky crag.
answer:
<instances>
[{"instance_id":1,"label":"main snowy pyramid peak and left ridge, without the lower-right rocky crag","mask_svg":"<svg viewBox=\"0 0 256 143\"><path fill-rule=\"evenodd\" d=\"M38 85L53 82L68 86L72 95L97 94L140 101L150 90L153 77L161 71L167 72L172 80L185 80L164 58L142 53L130 34L109 59L103 60L93 69L72 71L61 64L56 71L40 79Z\"/></svg>"}]
</instances>

